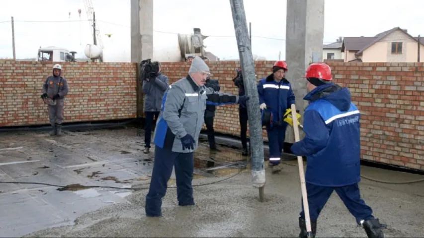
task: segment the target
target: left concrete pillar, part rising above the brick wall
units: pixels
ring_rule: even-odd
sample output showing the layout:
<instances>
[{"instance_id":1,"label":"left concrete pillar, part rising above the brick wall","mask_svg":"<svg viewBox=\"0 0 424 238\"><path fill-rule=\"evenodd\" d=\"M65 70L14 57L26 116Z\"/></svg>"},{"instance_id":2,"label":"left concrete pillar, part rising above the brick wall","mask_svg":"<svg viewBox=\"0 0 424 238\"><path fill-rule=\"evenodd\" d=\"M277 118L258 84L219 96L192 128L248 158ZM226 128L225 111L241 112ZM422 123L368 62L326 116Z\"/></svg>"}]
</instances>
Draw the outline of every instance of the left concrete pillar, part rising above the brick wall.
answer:
<instances>
[{"instance_id":1,"label":"left concrete pillar, part rising above the brick wall","mask_svg":"<svg viewBox=\"0 0 424 238\"><path fill-rule=\"evenodd\" d=\"M131 0L131 62L153 58L153 0Z\"/></svg>"}]
</instances>

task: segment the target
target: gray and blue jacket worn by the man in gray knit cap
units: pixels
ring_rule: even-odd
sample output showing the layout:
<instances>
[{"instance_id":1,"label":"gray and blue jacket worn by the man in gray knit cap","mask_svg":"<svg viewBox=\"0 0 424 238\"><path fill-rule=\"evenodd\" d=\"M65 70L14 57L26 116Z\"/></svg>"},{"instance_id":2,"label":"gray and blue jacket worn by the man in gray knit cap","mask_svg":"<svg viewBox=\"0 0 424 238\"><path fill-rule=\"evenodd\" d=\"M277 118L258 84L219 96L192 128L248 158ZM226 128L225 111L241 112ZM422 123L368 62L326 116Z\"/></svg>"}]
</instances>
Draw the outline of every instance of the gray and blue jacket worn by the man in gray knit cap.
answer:
<instances>
[{"instance_id":1,"label":"gray and blue jacket worn by the man in gray knit cap","mask_svg":"<svg viewBox=\"0 0 424 238\"><path fill-rule=\"evenodd\" d=\"M196 150L198 145L206 103L215 106L236 104L239 97L197 86L187 75L169 87L164 101L164 110L156 123L155 145L173 152L190 153ZM182 149L180 138L187 133L196 141L194 150Z\"/></svg>"}]
</instances>

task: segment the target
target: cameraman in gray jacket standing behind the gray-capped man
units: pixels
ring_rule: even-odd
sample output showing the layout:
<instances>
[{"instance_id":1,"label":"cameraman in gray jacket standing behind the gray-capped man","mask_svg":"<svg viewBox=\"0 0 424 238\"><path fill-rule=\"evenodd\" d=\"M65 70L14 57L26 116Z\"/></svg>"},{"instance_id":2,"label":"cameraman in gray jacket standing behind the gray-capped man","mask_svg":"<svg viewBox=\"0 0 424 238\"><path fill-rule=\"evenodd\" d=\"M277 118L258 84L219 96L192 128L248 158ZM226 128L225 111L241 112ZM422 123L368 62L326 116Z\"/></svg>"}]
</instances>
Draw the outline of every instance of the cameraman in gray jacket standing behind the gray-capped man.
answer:
<instances>
[{"instance_id":1,"label":"cameraman in gray jacket standing behind the gray-capped man","mask_svg":"<svg viewBox=\"0 0 424 238\"><path fill-rule=\"evenodd\" d=\"M161 63L157 63L159 65L158 77L153 78L153 80L146 78L143 81L143 93L146 95L144 99L144 112L146 114L144 128L145 149L143 151L145 154L150 152L150 140L152 138L152 125L154 122L153 118L156 120L158 119L162 107L162 98L169 87L169 79L162 74Z\"/></svg>"}]
</instances>

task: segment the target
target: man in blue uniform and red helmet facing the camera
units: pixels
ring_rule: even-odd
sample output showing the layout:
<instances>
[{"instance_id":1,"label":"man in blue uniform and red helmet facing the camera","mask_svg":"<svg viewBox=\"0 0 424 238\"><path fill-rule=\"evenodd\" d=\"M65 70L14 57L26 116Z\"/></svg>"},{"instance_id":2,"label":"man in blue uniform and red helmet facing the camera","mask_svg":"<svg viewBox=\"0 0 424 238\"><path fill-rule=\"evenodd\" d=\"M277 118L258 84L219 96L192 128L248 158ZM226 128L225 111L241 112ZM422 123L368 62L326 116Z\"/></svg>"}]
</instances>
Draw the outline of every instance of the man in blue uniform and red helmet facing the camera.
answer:
<instances>
[{"instance_id":1,"label":"man in blue uniform and red helmet facing the camera","mask_svg":"<svg viewBox=\"0 0 424 238\"><path fill-rule=\"evenodd\" d=\"M269 146L269 163L273 172L280 171L281 152L284 148L287 122L284 114L291 104L294 104L295 96L290 82L284 77L287 72L285 61L276 61L272 67L272 74L263 78L257 84L259 94L259 108L270 110L272 113L272 127L266 128Z\"/></svg>"}]
</instances>

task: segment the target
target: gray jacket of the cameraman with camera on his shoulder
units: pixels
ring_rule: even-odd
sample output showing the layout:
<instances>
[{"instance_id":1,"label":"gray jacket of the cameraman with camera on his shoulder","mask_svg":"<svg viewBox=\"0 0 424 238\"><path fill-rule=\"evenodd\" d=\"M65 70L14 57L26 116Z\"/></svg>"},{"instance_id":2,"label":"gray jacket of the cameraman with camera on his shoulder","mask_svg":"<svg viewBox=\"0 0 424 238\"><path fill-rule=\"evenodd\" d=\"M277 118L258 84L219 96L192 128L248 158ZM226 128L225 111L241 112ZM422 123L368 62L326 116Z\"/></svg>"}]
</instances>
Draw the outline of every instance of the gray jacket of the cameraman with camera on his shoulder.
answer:
<instances>
[{"instance_id":1,"label":"gray jacket of the cameraman with camera on his shoulder","mask_svg":"<svg viewBox=\"0 0 424 238\"><path fill-rule=\"evenodd\" d=\"M144 99L145 112L161 111L162 98L168 87L169 79L162 73L159 73L155 80L143 81L143 93L146 95Z\"/></svg>"}]
</instances>

